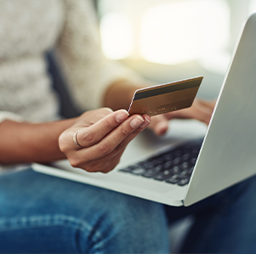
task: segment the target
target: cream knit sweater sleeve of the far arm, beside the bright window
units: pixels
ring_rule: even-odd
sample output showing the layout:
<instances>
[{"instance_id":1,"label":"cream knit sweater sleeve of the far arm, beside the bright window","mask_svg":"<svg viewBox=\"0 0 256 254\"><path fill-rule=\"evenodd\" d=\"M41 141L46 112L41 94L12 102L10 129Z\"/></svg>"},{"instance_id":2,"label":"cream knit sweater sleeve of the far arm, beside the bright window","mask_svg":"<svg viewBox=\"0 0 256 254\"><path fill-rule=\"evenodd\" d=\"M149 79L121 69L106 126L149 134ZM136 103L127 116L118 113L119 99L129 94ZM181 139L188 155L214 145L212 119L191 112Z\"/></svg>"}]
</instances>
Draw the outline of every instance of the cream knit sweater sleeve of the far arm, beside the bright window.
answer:
<instances>
[{"instance_id":1,"label":"cream knit sweater sleeve of the far arm, beside the bright window","mask_svg":"<svg viewBox=\"0 0 256 254\"><path fill-rule=\"evenodd\" d=\"M137 73L102 54L99 24L90 0L68 0L64 8L65 24L56 53L71 97L82 110L101 107L111 82L142 82Z\"/></svg>"}]
</instances>

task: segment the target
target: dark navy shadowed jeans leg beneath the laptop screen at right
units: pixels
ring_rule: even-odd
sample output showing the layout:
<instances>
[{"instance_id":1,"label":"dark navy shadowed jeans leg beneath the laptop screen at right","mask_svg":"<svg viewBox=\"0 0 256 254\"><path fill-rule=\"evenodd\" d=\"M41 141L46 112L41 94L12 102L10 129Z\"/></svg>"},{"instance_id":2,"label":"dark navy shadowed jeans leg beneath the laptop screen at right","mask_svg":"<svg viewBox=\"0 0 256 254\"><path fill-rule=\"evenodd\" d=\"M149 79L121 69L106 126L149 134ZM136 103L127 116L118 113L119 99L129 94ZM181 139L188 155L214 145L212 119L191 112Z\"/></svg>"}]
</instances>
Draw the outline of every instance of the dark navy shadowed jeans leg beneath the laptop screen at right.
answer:
<instances>
[{"instance_id":1,"label":"dark navy shadowed jeans leg beneath the laptop screen at right","mask_svg":"<svg viewBox=\"0 0 256 254\"><path fill-rule=\"evenodd\" d=\"M188 207L166 206L169 223L187 214L194 224L182 253L256 253L256 177Z\"/></svg>"}]
</instances>

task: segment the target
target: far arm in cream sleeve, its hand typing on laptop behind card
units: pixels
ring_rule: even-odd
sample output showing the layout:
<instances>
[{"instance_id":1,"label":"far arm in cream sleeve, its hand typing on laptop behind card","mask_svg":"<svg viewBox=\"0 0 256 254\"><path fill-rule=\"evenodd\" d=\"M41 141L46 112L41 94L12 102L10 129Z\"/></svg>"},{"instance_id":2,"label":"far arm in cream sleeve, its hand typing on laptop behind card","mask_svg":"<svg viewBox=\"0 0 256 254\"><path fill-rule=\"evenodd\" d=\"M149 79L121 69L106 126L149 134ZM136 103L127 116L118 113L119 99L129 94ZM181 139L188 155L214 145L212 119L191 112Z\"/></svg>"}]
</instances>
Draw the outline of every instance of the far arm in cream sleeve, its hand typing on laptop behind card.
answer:
<instances>
[{"instance_id":1,"label":"far arm in cream sleeve, its hand typing on laptop behind card","mask_svg":"<svg viewBox=\"0 0 256 254\"><path fill-rule=\"evenodd\" d=\"M73 98L82 109L106 106L128 110L134 91L148 85L133 71L105 59L90 1L70 0L65 7L66 23L57 53ZM162 135L168 130L168 120L173 118L196 118L208 123L212 112L212 103L196 100L190 109L154 116L151 129Z\"/></svg>"}]
</instances>

